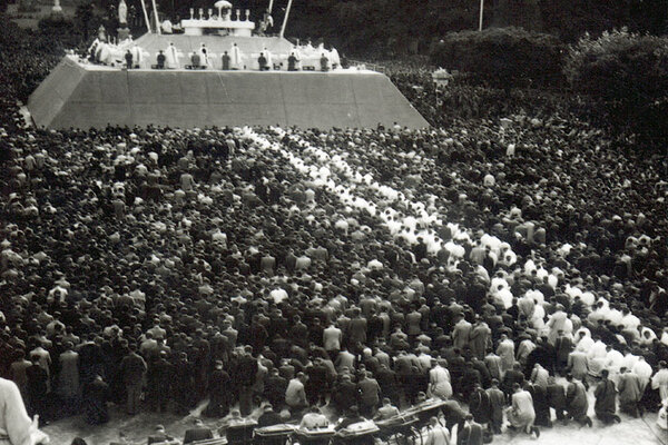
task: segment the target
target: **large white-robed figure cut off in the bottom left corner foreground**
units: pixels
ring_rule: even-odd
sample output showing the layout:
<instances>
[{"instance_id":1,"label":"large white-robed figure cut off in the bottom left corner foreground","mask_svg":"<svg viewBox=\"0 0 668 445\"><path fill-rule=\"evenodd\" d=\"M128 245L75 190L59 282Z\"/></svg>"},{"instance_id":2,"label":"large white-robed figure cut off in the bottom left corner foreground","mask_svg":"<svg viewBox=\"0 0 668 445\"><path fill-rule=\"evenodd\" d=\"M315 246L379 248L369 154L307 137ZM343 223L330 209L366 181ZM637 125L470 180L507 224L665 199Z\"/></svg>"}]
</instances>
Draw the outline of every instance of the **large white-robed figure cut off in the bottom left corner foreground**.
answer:
<instances>
[{"instance_id":1,"label":"large white-robed figure cut off in the bottom left corner foreground","mask_svg":"<svg viewBox=\"0 0 668 445\"><path fill-rule=\"evenodd\" d=\"M0 378L0 445L48 444L49 436L37 423L38 416L32 421L28 417L18 386Z\"/></svg>"}]
</instances>

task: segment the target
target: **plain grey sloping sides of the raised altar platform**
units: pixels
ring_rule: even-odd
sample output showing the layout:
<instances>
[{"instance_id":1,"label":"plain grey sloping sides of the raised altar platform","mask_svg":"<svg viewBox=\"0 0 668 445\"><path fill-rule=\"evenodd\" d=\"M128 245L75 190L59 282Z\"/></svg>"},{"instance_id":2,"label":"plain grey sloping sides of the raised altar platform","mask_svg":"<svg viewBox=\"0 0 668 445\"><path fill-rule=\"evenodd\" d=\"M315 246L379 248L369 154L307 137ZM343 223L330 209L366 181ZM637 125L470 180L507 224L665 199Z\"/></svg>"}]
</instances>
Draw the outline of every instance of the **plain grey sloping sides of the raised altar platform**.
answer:
<instances>
[{"instance_id":1,"label":"plain grey sloping sides of the raised altar platform","mask_svg":"<svg viewBox=\"0 0 668 445\"><path fill-rule=\"evenodd\" d=\"M373 71L126 71L71 57L35 90L28 110L38 127L51 129L429 126L387 77Z\"/></svg>"}]
</instances>

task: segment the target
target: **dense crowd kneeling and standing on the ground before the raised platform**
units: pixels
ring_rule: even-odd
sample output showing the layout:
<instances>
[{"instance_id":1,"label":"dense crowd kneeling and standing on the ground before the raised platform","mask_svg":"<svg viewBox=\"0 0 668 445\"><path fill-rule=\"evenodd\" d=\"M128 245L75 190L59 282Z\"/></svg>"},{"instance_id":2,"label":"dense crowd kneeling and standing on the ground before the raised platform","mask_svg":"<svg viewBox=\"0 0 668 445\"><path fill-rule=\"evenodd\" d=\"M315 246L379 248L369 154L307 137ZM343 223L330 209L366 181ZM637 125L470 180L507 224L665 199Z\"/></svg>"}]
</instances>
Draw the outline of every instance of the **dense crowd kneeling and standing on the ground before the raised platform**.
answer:
<instances>
[{"instance_id":1,"label":"dense crowd kneeling and standing on the ground before the raised platform","mask_svg":"<svg viewBox=\"0 0 668 445\"><path fill-rule=\"evenodd\" d=\"M12 85L0 376L41 419L432 397L474 444L668 403L665 155L558 115L49 131Z\"/></svg>"}]
</instances>

